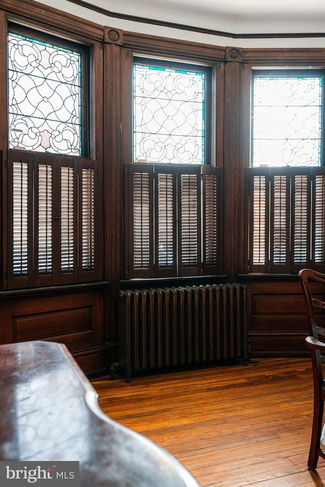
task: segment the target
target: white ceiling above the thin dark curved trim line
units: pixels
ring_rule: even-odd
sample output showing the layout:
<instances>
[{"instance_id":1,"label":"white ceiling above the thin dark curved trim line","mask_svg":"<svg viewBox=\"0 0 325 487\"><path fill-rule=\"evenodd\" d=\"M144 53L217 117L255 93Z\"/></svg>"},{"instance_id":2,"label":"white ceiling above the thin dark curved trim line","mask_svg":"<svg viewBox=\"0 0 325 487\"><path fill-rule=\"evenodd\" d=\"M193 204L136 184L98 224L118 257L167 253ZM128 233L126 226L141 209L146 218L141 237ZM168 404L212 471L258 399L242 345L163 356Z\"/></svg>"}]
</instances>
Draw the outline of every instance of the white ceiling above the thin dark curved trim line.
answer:
<instances>
[{"instance_id":1,"label":"white ceiling above the thin dark curved trim line","mask_svg":"<svg viewBox=\"0 0 325 487\"><path fill-rule=\"evenodd\" d=\"M325 0L86 0L120 14L222 32L325 32Z\"/></svg>"}]
</instances>

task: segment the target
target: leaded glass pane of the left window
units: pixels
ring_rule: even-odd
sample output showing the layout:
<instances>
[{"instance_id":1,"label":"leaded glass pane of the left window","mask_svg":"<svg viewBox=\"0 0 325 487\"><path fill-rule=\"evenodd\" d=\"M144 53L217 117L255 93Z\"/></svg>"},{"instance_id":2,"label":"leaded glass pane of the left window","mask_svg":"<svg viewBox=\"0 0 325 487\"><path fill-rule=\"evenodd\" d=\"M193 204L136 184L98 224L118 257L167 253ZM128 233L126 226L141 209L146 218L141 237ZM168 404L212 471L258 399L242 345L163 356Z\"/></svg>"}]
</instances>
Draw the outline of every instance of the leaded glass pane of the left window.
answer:
<instances>
[{"instance_id":1,"label":"leaded glass pane of the left window","mask_svg":"<svg viewBox=\"0 0 325 487\"><path fill-rule=\"evenodd\" d=\"M81 153L81 55L8 35L9 148Z\"/></svg>"}]
</instances>

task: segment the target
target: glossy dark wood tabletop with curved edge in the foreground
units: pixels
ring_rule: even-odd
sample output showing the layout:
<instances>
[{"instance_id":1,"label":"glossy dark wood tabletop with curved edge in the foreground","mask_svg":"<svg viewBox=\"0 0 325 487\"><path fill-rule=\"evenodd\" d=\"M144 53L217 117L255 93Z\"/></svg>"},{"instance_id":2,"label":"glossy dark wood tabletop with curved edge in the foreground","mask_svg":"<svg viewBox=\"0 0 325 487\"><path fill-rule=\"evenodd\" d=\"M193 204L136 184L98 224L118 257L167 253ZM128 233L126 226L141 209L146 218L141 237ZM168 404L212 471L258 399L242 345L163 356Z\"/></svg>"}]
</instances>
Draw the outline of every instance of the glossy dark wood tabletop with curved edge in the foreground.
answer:
<instances>
[{"instance_id":1,"label":"glossy dark wood tabletop with curved edge in the foreground","mask_svg":"<svg viewBox=\"0 0 325 487\"><path fill-rule=\"evenodd\" d=\"M79 461L89 487L198 487L166 450L112 421L67 348L0 345L0 460Z\"/></svg>"}]
</instances>

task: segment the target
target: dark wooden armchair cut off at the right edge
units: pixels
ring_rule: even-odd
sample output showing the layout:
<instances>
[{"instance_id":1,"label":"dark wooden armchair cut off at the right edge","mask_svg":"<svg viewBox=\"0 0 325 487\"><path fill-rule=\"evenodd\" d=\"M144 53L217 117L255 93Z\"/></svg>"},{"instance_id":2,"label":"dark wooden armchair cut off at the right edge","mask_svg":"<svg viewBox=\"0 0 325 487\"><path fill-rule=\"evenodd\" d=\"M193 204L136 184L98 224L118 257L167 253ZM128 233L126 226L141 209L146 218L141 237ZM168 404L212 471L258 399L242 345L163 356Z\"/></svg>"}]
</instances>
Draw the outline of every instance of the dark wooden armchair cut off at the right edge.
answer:
<instances>
[{"instance_id":1,"label":"dark wooden armchair cut off at the right edge","mask_svg":"<svg viewBox=\"0 0 325 487\"><path fill-rule=\"evenodd\" d=\"M317 281L325 284L325 274L311 269L303 269L299 272L299 279L303 288L307 303L308 333L307 346L311 349L313 382L314 382L314 413L311 433L311 442L308 458L308 468L314 470L317 467L318 457L325 460L325 450L321 448L320 437L322 432L323 408L325 400L325 380L321 364L325 364L325 328L321 316L316 320L316 311L325 310L325 302L312 297L309 281ZM325 292L325 286L324 286ZM316 321L318 323L316 323Z\"/></svg>"}]
</instances>

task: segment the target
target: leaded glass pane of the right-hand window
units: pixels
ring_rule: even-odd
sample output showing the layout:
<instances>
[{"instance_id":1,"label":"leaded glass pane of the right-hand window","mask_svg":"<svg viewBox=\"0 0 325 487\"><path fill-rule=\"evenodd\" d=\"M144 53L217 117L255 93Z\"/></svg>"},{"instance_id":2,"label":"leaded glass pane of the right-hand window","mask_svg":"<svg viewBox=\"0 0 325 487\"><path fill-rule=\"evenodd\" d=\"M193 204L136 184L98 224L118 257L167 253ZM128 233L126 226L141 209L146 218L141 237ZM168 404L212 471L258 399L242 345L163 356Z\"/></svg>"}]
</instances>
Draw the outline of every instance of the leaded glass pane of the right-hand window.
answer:
<instances>
[{"instance_id":1,"label":"leaded glass pane of the right-hand window","mask_svg":"<svg viewBox=\"0 0 325 487\"><path fill-rule=\"evenodd\" d=\"M255 76L252 166L318 166L321 76Z\"/></svg>"}]
</instances>

